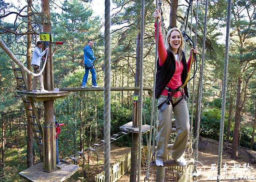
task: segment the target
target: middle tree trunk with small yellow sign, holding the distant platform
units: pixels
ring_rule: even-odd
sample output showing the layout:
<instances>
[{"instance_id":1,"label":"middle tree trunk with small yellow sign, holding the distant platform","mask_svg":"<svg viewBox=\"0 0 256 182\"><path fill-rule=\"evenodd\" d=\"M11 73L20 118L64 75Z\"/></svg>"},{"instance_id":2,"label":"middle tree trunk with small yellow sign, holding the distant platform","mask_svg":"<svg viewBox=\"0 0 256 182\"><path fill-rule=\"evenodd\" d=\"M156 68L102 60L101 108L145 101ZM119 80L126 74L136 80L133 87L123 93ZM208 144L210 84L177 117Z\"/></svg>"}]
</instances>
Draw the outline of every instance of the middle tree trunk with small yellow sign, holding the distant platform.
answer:
<instances>
[{"instance_id":1,"label":"middle tree trunk with small yellow sign, holding the distant platform","mask_svg":"<svg viewBox=\"0 0 256 182\"><path fill-rule=\"evenodd\" d=\"M135 87L139 87L140 80L140 32L136 36L136 74ZM134 91L134 95L139 95L139 91ZM140 98L139 98L140 100ZM140 101L142 102L142 100ZM139 102L133 104L133 126L139 125ZM137 178L137 163L138 163L138 145L139 134L132 132L131 143L131 176L130 182L135 182Z\"/></svg>"}]
</instances>

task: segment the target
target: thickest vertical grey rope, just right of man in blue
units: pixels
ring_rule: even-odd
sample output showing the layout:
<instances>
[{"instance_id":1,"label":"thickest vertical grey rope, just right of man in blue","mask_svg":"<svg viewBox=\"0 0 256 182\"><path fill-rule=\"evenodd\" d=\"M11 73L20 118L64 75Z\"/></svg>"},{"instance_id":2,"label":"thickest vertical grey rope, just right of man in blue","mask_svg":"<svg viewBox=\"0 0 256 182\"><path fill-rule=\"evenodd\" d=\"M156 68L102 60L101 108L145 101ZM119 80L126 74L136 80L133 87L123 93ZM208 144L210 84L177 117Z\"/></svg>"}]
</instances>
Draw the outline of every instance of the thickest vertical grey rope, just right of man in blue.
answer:
<instances>
[{"instance_id":1,"label":"thickest vertical grey rope, just right of man in blue","mask_svg":"<svg viewBox=\"0 0 256 182\"><path fill-rule=\"evenodd\" d=\"M110 0L105 0L104 181L110 182Z\"/></svg>"}]
</instances>

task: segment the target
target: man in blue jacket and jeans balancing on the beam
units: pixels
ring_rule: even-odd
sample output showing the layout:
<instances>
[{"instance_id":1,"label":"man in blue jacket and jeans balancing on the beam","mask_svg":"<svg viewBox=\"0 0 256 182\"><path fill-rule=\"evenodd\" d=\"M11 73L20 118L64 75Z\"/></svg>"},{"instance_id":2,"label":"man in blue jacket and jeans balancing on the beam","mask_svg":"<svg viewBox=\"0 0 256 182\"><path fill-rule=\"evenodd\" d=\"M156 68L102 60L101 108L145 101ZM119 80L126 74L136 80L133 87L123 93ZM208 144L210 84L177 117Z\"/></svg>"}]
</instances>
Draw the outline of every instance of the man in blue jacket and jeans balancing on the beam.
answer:
<instances>
[{"instance_id":1,"label":"man in blue jacket and jeans balancing on the beam","mask_svg":"<svg viewBox=\"0 0 256 182\"><path fill-rule=\"evenodd\" d=\"M83 48L83 60L84 60L84 75L82 80L82 86L81 88L86 88L86 83L88 79L89 70L91 72L91 82L93 88L99 88L99 86L96 83L96 72L94 70L93 61L96 59L96 57L93 54L93 41L89 40L87 45Z\"/></svg>"}]
</instances>

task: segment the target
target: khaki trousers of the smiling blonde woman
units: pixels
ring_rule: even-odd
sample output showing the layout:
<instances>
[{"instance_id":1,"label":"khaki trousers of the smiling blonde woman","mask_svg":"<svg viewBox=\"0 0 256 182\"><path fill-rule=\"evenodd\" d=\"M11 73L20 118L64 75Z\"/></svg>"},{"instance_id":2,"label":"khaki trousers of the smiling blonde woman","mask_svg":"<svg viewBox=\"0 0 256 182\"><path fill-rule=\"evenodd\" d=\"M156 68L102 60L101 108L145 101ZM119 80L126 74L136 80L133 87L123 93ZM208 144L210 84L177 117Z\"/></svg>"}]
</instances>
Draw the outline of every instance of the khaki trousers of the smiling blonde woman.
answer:
<instances>
[{"instance_id":1,"label":"khaki trousers of the smiling blonde woman","mask_svg":"<svg viewBox=\"0 0 256 182\"><path fill-rule=\"evenodd\" d=\"M173 103L176 103L181 97L172 97ZM167 96L160 95L158 98L157 105L159 106L162 102L167 99ZM176 139L172 147L172 158L174 160L179 159L185 153L188 135L189 135L189 114L187 102L182 99L174 108L172 104L167 105L161 112L158 110L158 127L157 127L157 156L159 161L167 161L167 145L172 133L172 111L176 118Z\"/></svg>"}]
</instances>

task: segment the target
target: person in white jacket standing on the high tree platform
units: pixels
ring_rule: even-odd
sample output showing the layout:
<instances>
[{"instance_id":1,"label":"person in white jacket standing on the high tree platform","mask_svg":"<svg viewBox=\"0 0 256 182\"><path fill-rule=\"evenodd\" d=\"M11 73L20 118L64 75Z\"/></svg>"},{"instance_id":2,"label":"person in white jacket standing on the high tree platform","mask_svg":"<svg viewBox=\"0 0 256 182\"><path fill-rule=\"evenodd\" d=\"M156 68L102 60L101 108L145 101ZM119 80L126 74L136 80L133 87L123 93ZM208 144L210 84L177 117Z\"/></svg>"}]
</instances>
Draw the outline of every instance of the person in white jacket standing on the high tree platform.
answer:
<instances>
[{"instance_id":1,"label":"person in white jacket standing on the high tree platform","mask_svg":"<svg viewBox=\"0 0 256 182\"><path fill-rule=\"evenodd\" d=\"M35 47L32 56L31 66L32 68L34 68L34 73L36 74L38 74L41 71L41 59L45 59L42 58L42 56L45 55L46 51L48 50L48 48L45 48L45 50L42 52L42 47L43 43L41 41L38 41L37 47ZM39 81L39 90L37 90L37 78ZM34 76L32 83L32 92L48 92L44 89L44 80L42 74L39 76Z\"/></svg>"}]
</instances>

